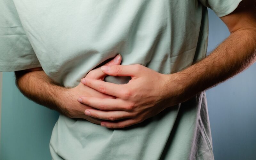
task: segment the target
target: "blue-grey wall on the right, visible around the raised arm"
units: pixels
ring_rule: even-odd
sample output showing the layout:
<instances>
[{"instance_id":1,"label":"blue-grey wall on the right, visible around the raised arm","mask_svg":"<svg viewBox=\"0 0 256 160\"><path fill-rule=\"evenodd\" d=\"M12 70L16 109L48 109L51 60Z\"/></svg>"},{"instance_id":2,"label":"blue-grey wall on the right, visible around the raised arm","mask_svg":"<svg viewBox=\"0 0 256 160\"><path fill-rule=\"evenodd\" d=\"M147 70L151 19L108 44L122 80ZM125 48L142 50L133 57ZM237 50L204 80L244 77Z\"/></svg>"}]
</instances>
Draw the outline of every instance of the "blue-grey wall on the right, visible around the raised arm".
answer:
<instances>
[{"instance_id":1,"label":"blue-grey wall on the right, visible around the raised arm","mask_svg":"<svg viewBox=\"0 0 256 160\"><path fill-rule=\"evenodd\" d=\"M208 52L228 36L228 28L209 10ZM206 92L216 160L256 157L255 70L256 63Z\"/></svg>"}]
</instances>

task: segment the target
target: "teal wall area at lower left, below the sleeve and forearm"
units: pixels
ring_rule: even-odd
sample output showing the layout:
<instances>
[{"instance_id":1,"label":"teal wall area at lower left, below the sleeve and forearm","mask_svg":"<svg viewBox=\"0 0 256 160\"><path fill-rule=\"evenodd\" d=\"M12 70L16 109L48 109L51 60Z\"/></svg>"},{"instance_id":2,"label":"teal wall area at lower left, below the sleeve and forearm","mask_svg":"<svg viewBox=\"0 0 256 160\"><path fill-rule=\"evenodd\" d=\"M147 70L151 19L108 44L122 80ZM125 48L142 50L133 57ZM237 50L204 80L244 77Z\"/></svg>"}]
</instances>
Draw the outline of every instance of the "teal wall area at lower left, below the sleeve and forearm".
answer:
<instances>
[{"instance_id":1,"label":"teal wall area at lower left, below the sleeve and forearm","mask_svg":"<svg viewBox=\"0 0 256 160\"><path fill-rule=\"evenodd\" d=\"M14 72L3 73L1 160L49 160L52 128L59 114L24 97Z\"/></svg>"}]
</instances>

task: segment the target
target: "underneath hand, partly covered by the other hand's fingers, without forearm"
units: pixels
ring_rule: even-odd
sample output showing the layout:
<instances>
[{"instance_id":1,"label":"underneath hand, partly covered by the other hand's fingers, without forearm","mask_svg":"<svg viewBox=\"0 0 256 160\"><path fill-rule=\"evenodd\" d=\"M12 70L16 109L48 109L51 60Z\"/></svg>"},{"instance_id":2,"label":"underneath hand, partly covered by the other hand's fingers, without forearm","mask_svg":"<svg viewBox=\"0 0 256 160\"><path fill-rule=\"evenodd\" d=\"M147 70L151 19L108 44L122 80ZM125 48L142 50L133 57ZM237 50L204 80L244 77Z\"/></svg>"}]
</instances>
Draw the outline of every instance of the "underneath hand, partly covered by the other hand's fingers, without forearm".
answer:
<instances>
[{"instance_id":1,"label":"underneath hand, partly covered by the other hand's fingers, without forearm","mask_svg":"<svg viewBox=\"0 0 256 160\"><path fill-rule=\"evenodd\" d=\"M105 64L105 66L118 65L121 63L122 57L120 54L116 55L116 57ZM93 78L98 80L104 80L105 76L107 76L102 70L99 68L91 70L85 77ZM78 97L84 95L86 97L97 97L97 98L113 98L111 95L103 94L99 91L96 91L81 82L74 88L65 89L63 99L60 102L61 106L65 108L68 112L68 116L70 118L84 118L92 123L100 124L101 119L93 118L91 116L86 116L84 114L85 109L92 108L90 106L86 106L77 101ZM93 108L95 109L95 108Z\"/></svg>"}]
</instances>

